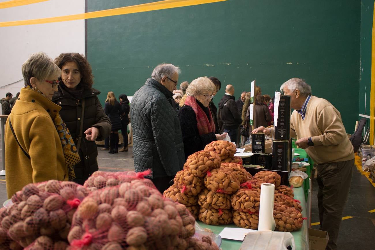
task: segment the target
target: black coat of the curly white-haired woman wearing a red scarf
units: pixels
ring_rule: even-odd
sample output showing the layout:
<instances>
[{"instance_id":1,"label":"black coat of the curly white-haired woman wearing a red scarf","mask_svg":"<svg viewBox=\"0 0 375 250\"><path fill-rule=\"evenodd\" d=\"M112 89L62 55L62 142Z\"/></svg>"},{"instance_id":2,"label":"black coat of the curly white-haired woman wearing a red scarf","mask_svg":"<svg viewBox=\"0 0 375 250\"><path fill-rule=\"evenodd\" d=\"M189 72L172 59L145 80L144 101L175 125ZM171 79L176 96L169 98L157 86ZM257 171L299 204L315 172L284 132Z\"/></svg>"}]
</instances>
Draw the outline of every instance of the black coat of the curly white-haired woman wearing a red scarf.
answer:
<instances>
[{"instance_id":1,"label":"black coat of the curly white-haired woman wearing a red scarf","mask_svg":"<svg viewBox=\"0 0 375 250\"><path fill-rule=\"evenodd\" d=\"M196 115L190 106L185 105L180 108L178 111L178 119L181 124L186 159L190 154L203 150L208 143L216 141L216 135L214 132L199 135Z\"/></svg>"}]
</instances>

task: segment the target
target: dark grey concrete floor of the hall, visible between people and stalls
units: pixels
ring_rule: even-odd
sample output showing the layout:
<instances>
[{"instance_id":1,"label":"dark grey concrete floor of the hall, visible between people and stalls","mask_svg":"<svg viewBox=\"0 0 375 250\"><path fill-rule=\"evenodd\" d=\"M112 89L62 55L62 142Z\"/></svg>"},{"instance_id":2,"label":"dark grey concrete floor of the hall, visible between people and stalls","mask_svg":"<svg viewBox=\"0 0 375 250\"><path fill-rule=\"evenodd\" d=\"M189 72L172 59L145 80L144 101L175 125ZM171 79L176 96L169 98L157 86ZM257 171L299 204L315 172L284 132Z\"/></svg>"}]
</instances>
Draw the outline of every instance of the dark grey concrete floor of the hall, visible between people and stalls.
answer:
<instances>
[{"instance_id":1,"label":"dark grey concrete floor of the hall, visible between people and stalls","mask_svg":"<svg viewBox=\"0 0 375 250\"><path fill-rule=\"evenodd\" d=\"M101 148L98 147L99 170L110 172L134 170L133 158L131 157L132 147L129 147L129 152L118 154L109 154L108 150L101 151ZM312 223L319 222L317 190L318 184L314 179L312 180ZM0 207L2 207L6 198L5 177L0 176ZM343 217L353 216L353 218L341 222L338 250L374 249L375 212L370 213L371 210L375 210L375 187L353 167L350 194L342 215ZM319 225L312 226L312 228L319 229Z\"/></svg>"}]
</instances>

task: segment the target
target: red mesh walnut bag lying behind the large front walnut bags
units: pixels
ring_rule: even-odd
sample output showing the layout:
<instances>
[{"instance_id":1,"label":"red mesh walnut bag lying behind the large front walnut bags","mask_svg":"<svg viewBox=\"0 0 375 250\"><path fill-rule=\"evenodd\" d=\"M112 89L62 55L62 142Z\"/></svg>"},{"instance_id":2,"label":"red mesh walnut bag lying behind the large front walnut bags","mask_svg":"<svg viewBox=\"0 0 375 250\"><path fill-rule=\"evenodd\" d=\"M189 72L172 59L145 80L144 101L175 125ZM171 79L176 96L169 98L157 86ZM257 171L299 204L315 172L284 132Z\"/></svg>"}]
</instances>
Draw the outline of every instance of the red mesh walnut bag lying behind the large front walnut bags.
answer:
<instances>
[{"instance_id":1,"label":"red mesh walnut bag lying behind the large front walnut bags","mask_svg":"<svg viewBox=\"0 0 375 250\"><path fill-rule=\"evenodd\" d=\"M96 171L85 181L84 187L87 187L90 191L102 189L104 187L113 187L124 182L130 182L132 180L142 180L149 187L153 187L154 184L151 180L144 178L146 175L150 175L151 170L148 169L144 172L124 171L124 172L104 172Z\"/></svg>"}]
</instances>

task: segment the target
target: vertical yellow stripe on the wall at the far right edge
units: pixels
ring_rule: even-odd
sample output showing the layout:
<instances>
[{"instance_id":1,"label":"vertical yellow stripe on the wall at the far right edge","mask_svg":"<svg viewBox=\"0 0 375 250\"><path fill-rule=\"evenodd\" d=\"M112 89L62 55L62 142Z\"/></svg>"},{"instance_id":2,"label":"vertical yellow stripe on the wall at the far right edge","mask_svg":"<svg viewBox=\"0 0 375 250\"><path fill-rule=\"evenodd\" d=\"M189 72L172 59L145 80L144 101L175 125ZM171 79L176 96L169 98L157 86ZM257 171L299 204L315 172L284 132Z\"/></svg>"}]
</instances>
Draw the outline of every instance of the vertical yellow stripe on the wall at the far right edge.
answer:
<instances>
[{"instance_id":1,"label":"vertical yellow stripe on the wall at the far right edge","mask_svg":"<svg viewBox=\"0 0 375 250\"><path fill-rule=\"evenodd\" d=\"M371 42L371 72L375 72L375 3L372 21L372 42ZM374 115L375 115L375 74L371 74L370 91L370 145L374 145ZM375 186L374 186L375 187Z\"/></svg>"}]
</instances>

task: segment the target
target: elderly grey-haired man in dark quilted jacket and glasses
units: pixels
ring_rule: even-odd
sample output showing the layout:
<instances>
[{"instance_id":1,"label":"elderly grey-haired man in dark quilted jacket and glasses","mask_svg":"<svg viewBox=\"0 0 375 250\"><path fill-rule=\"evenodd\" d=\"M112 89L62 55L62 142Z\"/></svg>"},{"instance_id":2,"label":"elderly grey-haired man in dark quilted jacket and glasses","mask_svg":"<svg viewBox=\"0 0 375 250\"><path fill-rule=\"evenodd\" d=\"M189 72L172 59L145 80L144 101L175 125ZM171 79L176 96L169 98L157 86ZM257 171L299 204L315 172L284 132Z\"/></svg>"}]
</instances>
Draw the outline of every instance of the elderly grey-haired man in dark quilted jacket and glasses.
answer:
<instances>
[{"instance_id":1,"label":"elderly grey-haired man in dark quilted jacket and glasses","mask_svg":"<svg viewBox=\"0 0 375 250\"><path fill-rule=\"evenodd\" d=\"M161 193L185 159L180 121L172 106L179 73L172 64L156 66L130 106L135 171L151 169L150 178Z\"/></svg>"}]
</instances>

